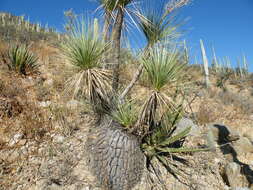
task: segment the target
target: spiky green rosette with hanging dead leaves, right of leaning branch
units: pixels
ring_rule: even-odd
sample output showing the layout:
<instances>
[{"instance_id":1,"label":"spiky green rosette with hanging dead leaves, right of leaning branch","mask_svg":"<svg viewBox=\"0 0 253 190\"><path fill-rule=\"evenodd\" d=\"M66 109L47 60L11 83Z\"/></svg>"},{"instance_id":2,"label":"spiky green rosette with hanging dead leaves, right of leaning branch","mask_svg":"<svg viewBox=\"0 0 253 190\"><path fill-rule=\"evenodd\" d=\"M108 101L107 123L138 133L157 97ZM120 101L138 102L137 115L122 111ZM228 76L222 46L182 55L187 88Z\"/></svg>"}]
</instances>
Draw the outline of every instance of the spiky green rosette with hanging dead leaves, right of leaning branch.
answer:
<instances>
[{"instance_id":1,"label":"spiky green rosette with hanging dead leaves, right of leaning branch","mask_svg":"<svg viewBox=\"0 0 253 190\"><path fill-rule=\"evenodd\" d=\"M185 63L182 54L176 48L168 52L168 49L162 45L153 48L150 56L144 57L141 63L147 72L147 80L152 92L144 103L139 124L152 125L166 110L174 109L174 102L164 93L164 87L167 84L171 86L177 84L183 75Z\"/></svg>"}]
</instances>

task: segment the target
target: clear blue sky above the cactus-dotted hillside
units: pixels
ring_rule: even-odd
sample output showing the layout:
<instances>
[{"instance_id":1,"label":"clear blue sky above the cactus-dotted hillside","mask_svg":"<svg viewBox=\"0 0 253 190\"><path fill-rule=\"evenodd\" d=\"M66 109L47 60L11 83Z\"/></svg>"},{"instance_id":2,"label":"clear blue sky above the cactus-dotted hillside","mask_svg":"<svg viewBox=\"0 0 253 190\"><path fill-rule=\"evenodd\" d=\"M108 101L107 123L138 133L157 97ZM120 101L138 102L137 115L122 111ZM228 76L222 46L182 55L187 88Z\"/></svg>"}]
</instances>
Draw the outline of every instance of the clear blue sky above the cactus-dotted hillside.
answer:
<instances>
[{"instance_id":1,"label":"clear blue sky above the cactus-dotted hillside","mask_svg":"<svg viewBox=\"0 0 253 190\"><path fill-rule=\"evenodd\" d=\"M96 7L89 0L0 0L0 11L24 14L32 22L48 23L60 31L63 11L73 8L77 14L92 14ZM200 60L201 38L209 57L212 46L218 57L228 56L232 63L245 53L253 72L253 0L194 0L178 12L178 18L189 18L183 29L192 58L196 55ZM140 36L134 39L142 44Z\"/></svg>"}]
</instances>

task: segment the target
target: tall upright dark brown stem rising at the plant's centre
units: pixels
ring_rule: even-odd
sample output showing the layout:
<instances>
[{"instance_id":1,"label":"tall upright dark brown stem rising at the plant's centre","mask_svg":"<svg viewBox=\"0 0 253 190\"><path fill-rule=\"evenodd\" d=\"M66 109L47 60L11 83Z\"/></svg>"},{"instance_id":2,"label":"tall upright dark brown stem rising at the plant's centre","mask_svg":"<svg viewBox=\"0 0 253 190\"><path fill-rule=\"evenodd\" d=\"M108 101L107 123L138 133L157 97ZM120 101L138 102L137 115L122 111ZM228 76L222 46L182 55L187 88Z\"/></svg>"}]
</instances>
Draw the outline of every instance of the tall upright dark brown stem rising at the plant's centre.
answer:
<instances>
[{"instance_id":1,"label":"tall upright dark brown stem rising at the plant's centre","mask_svg":"<svg viewBox=\"0 0 253 190\"><path fill-rule=\"evenodd\" d=\"M119 87L119 65L120 65L120 38L124 19L124 11L121 7L118 8L115 24L112 31L112 54L113 54L113 81L112 88L117 91Z\"/></svg>"}]
</instances>

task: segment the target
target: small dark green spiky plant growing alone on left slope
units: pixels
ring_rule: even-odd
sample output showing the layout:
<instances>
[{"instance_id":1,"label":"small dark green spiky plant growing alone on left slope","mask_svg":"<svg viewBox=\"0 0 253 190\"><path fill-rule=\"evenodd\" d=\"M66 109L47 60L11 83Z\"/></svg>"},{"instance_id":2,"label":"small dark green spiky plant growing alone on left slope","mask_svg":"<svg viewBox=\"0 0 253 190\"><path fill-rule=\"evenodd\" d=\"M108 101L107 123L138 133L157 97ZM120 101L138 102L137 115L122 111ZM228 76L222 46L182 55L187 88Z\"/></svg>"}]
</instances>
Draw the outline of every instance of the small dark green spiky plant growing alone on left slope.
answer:
<instances>
[{"instance_id":1,"label":"small dark green spiky plant growing alone on left slope","mask_svg":"<svg viewBox=\"0 0 253 190\"><path fill-rule=\"evenodd\" d=\"M22 75L38 72L38 57L26 45L11 46L1 57L9 70L16 71Z\"/></svg>"}]
</instances>

